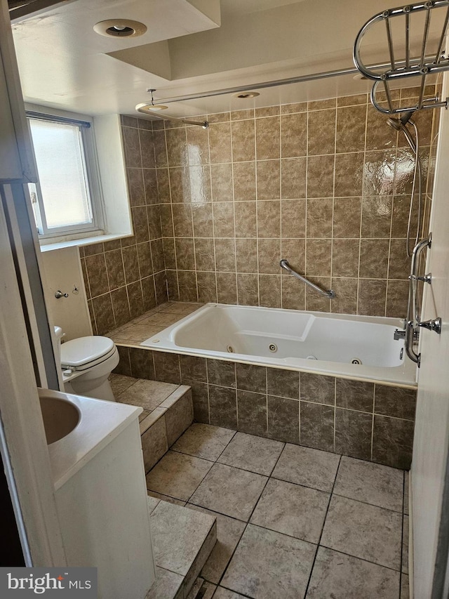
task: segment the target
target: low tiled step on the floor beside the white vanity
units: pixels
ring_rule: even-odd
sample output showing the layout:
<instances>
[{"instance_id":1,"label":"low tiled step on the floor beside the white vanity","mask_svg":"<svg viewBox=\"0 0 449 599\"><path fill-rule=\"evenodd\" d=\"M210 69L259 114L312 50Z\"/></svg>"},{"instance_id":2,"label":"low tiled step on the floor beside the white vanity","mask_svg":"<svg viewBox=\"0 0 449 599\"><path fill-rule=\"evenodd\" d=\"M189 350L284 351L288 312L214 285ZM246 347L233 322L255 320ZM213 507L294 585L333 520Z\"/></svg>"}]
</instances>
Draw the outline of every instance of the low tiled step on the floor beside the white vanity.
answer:
<instances>
[{"instance_id":1,"label":"low tiled step on the floor beside the white vanity","mask_svg":"<svg viewBox=\"0 0 449 599\"><path fill-rule=\"evenodd\" d=\"M147 599L211 597L212 585L197 579L217 541L215 518L154 497L148 508L156 581Z\"/></svg>"}]
</instances>

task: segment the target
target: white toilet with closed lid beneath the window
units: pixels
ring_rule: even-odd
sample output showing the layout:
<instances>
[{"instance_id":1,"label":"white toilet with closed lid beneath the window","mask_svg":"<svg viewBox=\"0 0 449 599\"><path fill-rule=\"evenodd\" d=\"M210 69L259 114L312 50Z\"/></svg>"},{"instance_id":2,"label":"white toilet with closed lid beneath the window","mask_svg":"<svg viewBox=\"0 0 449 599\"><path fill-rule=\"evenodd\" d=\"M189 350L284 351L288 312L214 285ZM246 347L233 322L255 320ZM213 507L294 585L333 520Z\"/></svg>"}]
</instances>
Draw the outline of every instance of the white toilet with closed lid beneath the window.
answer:
<instances>
[{"instance_id":1,"label":"white toilet with closed lid beneath the window","mask_svg":"<svg viewBox=\"0 0 449 599\"><path fill-rule=\"evenodd\" d=\"M108 380L112 370L119 364L119 350L114 341L95 335L61 343L61 327L55 327L55 336L65 392L114 402Z\"/></svg>"}]
</instances>

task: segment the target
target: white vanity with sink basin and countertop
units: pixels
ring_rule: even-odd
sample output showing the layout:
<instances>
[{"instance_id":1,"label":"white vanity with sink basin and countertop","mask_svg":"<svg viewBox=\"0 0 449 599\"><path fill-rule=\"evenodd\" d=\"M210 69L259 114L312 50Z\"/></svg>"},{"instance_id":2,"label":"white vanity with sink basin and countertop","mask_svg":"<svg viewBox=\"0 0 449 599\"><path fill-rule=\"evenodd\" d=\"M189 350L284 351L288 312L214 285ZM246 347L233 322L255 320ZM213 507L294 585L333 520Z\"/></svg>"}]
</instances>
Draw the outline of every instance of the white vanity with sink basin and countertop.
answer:
<instances>
[{"instance_id":1,"label":"white vanity with sink basin and countertop","mask_svg":"<svg viewBox=\"0 0 449 599\"><path fill-rule=\"evenodd\" d=\"M155 576L142 408L47 389L39 397L67 565L98 568L100 599L144 599Z\"/></svg>"}]
</instances>

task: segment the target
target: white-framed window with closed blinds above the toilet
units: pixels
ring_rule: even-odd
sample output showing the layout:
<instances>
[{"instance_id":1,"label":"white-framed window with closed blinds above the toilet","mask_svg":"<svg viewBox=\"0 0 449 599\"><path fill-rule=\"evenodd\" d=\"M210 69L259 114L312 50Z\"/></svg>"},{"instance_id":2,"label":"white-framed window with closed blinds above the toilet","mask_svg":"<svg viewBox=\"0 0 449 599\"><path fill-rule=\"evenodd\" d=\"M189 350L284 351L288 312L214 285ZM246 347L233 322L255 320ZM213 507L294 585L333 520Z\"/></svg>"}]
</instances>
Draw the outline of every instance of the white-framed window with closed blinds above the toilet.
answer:
<instances>
[{"instance_id":1,"label":"white-framed window with closed blinds above the toilet","mask_svg":"<svg viewBox=\"0 0 449 599\"><path fill-rule=\"evenodd\" d=\"M27 112L39 183L30 184L40 237L102 232L95 145L88 121Z\"/></svg>"}]
</instances>

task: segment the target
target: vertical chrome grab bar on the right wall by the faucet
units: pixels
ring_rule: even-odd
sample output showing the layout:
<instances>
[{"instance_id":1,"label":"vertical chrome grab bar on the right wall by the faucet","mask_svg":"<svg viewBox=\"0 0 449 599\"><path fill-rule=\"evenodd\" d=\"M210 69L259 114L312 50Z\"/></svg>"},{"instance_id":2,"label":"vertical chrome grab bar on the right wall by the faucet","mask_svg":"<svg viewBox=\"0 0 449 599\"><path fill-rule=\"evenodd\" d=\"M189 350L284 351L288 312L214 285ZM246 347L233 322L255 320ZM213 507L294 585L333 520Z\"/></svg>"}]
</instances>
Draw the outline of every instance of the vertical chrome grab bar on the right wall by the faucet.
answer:
<instances>
[{"instance_id":1,"label":"vertical chrome grab bar on the right wall by the faucet","mask_svg":"<svg viewBox=\"0 0 449 599\"><path fill-rule=\"evenodd\" d=\"M438 335L441 334L441 318L436 318L435 320L427 320L422 322L420 315L420 306L417 302L417 285L418 281L422 281L424 283L431 284L431 274L424 275L423 277L418 276L417 271L420 265L420 256L421 252L427 248L431 247L432 243L432 234L429 234L429 237L426 239L422 239L418 244L415 245L412 254L412 265L410 268L410 289L408 292L408 309L407 309L407 324L406 324L406 353L410 360L413 360L418 367L421 364L421 354L416 353L413 349L413 341L415 341L419 336L420 328L428 329L429 331L435 331Z\"/></svg>"}]
</instances>

